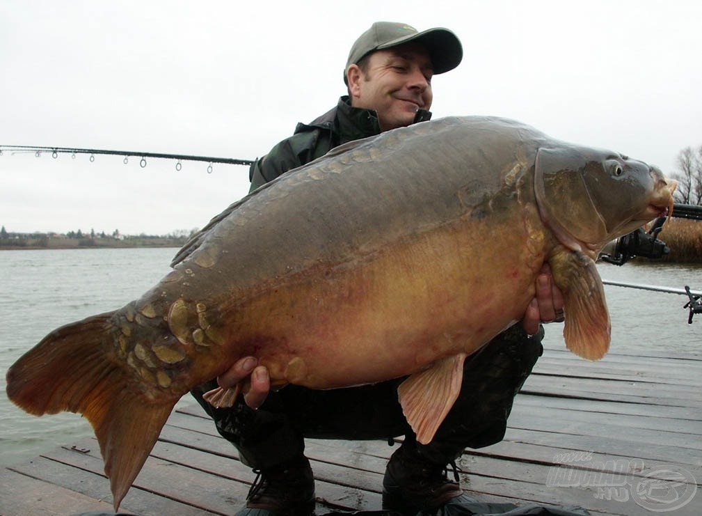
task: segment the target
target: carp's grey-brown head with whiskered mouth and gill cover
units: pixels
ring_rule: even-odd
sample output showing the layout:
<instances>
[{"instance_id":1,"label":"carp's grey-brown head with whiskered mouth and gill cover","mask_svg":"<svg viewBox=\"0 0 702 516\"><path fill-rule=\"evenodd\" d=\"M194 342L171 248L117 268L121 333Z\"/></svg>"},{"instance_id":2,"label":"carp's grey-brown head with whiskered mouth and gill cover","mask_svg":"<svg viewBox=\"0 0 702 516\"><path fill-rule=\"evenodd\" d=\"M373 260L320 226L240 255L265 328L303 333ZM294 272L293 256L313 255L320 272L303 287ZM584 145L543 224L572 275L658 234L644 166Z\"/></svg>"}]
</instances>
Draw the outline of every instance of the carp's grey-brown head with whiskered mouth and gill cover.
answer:
<instances>
[{"instance_id":1,"label":"carp's grey-brown head with whiskered mouth and gill cover","mask_svg":"<svg viewBox=\"0 0 702 516\"><path fill-rule=\"evenodd\" d=\"M608 150L540 148L536 203L560 243L592 259L610 240L672 212L677 181L660 169Z\"/></svg>"}]
</instances>

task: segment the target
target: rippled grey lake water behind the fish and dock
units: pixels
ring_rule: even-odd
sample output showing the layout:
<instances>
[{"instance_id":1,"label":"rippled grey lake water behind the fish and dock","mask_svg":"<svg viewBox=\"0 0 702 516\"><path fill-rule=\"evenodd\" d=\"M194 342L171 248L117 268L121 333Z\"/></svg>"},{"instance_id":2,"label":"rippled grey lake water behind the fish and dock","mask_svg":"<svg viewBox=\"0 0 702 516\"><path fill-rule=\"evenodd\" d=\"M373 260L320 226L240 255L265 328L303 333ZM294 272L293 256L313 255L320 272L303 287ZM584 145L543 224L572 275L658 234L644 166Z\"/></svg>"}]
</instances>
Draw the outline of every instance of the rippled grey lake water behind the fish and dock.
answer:
<instances>
[{"instance_id":1,"label":"rippled grey lake water behind the fish and dock","mask_svg":"<svg viewBox=\"0 0 702 516\"><path fill-rule=\"evenodd\" d=\"M0 251L0 465L37 456L93 434L75 414L37 418L4 395L5 372L60 325L122 307L168 272L173 248ZM698 266L598 265L605 280L702 290ZM702 356L702 314L687 324L687 297L606 286L611 352ZM563 347L562 325L546 328L547 347ZM190 402L189 396L184 400Z\"/></svg>"}]
</instances>

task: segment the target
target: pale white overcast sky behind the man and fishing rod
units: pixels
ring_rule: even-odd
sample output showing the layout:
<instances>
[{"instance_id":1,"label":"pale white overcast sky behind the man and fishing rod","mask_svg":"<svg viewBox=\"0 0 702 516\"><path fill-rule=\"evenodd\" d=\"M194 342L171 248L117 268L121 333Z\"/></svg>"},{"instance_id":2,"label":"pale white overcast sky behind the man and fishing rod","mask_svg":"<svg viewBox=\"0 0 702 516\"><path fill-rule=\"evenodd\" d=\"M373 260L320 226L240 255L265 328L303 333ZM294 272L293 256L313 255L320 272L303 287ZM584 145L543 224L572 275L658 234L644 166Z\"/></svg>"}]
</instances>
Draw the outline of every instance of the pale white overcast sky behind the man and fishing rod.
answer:
<instances>
[{"instance_id":1,"label":"pale white overcast sky behind the man and fishing rod","mask_svg":"<svg viewBox=\"0 0 702 516\"><path fill-rule=\"evenodd\" d=\"M251 159L345 93L373 21L448 27L463 63L434 117L500 115L675 169L702 145L702 2L33 1L0 3L0 145ZM5 152L8 231L166 234L248 192L248 168Z\"/></svg>"}]
</instances>

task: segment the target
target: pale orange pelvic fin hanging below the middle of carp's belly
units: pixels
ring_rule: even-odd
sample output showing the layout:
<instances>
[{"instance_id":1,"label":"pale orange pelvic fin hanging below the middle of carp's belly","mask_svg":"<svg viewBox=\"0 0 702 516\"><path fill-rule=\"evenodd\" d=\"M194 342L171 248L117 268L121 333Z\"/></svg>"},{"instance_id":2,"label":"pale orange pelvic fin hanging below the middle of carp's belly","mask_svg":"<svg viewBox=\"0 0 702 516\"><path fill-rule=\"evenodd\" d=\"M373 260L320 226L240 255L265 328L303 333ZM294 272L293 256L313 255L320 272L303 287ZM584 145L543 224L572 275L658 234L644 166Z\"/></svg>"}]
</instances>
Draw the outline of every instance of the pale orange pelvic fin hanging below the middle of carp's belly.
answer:
<instances>
[{"instance_id":1,"label":"pale orange pelvic fin hanging below the middle of carp's belly","mask_svg":"<svg viewBox=\"0 0 702 516\"><path fill-rule=\"evenodd\" d=\"M407 423L421 444L428 444L461 391L465 353L448 356L414 373L397 388Z\"/></svg>"}]
</instances>

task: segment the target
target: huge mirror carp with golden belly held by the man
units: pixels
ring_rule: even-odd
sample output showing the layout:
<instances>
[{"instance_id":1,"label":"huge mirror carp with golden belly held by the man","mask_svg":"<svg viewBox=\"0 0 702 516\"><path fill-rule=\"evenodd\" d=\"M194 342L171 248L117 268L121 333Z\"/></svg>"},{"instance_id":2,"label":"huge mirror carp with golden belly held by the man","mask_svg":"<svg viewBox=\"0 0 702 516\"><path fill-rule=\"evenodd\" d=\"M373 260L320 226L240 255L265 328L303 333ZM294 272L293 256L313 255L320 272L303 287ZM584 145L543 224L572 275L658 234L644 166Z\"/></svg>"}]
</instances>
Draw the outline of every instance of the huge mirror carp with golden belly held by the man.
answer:
<instances>
[{"instance_id":1,"label":"huge mirror carp with golden belly held by the man","mask_svg":"<svg viewBox=\"0 0 702 516\"><path fill-rule=\"evenodd\" d=\"M8 396L91 421L115 509L180 396L242 356L313 389L411 375L400 400L428 442L463 360L522 317L544 262L569 349L606 353L594 259L665 213L674 188L642 162L498 118L350 143L235 202L140 299L49 334L8 370Z\"/></svg>"}]
</instances>

